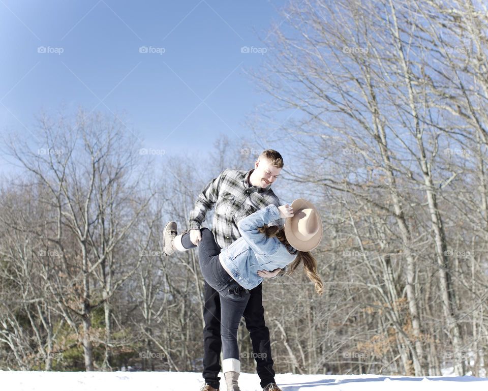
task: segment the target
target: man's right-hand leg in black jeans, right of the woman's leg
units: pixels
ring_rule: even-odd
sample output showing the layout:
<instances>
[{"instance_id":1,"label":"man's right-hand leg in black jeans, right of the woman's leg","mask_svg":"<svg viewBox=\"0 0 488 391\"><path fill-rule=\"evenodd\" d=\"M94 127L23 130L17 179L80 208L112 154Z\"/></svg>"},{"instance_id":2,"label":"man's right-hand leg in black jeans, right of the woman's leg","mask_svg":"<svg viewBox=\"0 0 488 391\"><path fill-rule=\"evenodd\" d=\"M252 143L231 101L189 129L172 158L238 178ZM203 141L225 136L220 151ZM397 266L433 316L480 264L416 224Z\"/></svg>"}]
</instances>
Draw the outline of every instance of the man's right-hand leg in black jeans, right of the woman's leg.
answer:
<instances>
[{"instance_id":1,"label":"man's right-hand leg in black jeans, right of the woman's leg","mask_svg":"<svg viewBox=\"0 0 488 391\"><path fill-rule=\"evenodd\" d=\"M261 379L261 387L269 383L275 383L275 371L271 357L271 343L269 341L269 329L264 321L262 284L251 289L248 305L243 314L246 327L253 344L254 359L256 360L256 372Z\"/></svg>"}]
</instances>

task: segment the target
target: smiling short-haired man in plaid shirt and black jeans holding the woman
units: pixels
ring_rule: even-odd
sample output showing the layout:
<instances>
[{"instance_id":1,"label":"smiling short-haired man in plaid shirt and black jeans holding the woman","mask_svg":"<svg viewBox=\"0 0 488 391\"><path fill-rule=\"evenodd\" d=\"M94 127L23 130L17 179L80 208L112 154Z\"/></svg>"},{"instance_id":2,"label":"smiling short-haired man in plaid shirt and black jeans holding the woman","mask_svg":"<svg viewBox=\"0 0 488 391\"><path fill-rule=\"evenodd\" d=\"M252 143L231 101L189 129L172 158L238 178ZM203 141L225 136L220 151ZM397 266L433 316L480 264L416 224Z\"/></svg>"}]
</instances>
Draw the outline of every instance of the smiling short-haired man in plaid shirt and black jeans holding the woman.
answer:
<instances>
[{"instance_id":1,"label":"smiling short-haired man in plaid shirt and black jeans holding the woman","mask_svg":"<svg viewBox=\"0 0 488 391\"><path fill-rule=\"evenodd\" d=\"M237 228L237 223L240 219L269 204L281 205L279 198L271 190L271 185L276 182L282 168L282 156L273 149L266 149L254 163L254 169L248 172L233 169L224 170L217 178L205 186L202 193L198 196L195 207L190 214L190 240L182 243L182 235L178 235L174 237L174 242L171 238L165 238L165 243L171 242L174 249L179 251L186 251L198 246L202 239L200 225L205 220L207 212L215 205L212 233L214 233L216 242L221 249L229 246L240 237ZM174 222L168 224L174 224L171 229L176 231ZM282 225L282 221L278 221L277 224ZM282 270L279 268L272 272L264 270L264 277L274 278L278 275L283 275L285 271L286 269ZM201 390L219 391L220 377L218 375L221 370L220 351L222 348L220 296L219 292L206 282L204 286L203 378L205 379L205 384ZM256 360L256 371L261 379L261 387L263 387L264 391L281 391L275 382L269 330L264 321L262 285L260 284L252 289L250 293L251 296L243 317L250 333ZM238 372L240 372L240 368ZM238 389L238 372L232 372L232 370L228 372L224 368L224 373L233 374L231 379L226 377L228 389L232 389L232 387L234 387L233 389Z\"/></svg>"}]
</instances>

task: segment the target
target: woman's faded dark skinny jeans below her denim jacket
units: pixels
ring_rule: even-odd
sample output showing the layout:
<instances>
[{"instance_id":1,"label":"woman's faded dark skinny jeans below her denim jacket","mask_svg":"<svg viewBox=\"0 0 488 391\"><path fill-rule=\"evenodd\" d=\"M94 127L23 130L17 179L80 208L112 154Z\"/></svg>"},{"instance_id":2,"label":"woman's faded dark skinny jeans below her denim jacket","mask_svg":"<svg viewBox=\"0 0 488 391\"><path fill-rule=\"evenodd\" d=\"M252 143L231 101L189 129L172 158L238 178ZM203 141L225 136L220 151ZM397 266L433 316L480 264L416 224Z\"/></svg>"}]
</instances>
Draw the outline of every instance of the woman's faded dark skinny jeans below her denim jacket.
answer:
<instances>
[{"instance_id":1,"label":"woman's faded dark skinny jeans below her denim jacket","mask_svg":"<svg viewBox=\"0 0 488 391\"><path fill-rule=\"evenodd\" d=\"M206 283L219 292L220 295L220 333L222 337L222 352L225 358L239 360L237 345L237 329L240 318L249 300L249 290L242 288L222 267L219 261L220 247L215 242L214 234L208 228L202 228L202 240L198 246L200 269ZM188 237L185 237L187 236ZM186 233L181 238L182 243L189 238ZM185 245L185 243L184 243Z\"/></svg>"}]
</instances>

